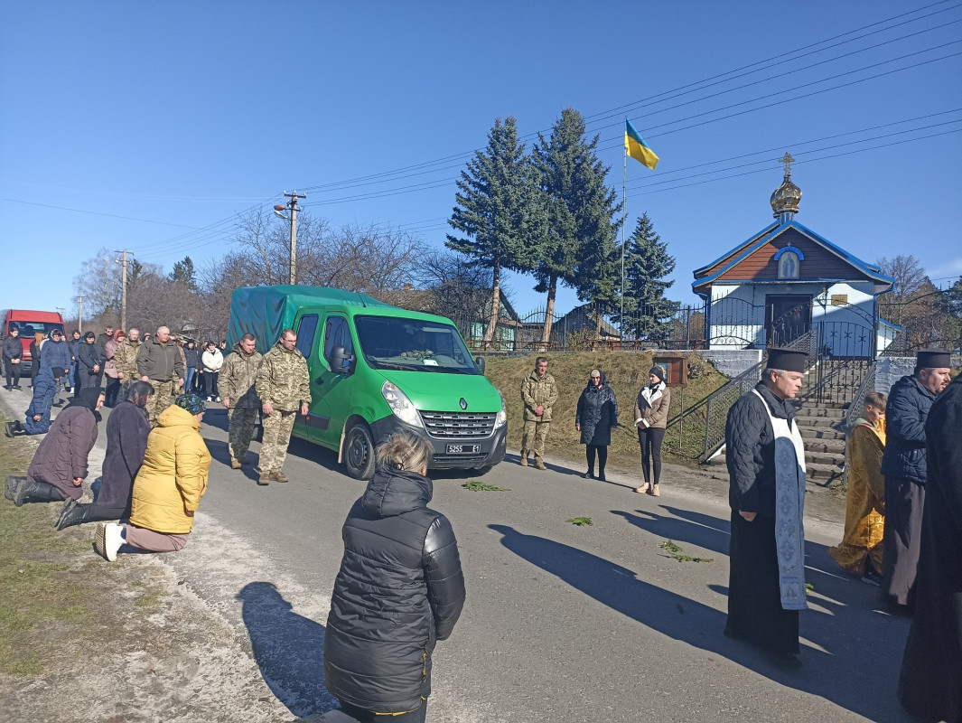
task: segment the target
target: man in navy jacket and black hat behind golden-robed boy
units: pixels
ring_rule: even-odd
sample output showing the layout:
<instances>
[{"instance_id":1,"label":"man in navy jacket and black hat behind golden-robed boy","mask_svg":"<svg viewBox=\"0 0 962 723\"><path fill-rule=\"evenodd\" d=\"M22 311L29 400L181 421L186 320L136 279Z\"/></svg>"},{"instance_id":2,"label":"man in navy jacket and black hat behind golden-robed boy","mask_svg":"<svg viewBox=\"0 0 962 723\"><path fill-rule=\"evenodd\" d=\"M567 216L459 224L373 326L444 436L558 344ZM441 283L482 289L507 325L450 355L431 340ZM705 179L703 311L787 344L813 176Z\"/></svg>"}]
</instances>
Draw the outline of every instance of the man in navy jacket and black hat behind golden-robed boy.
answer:
<instances>
[{"instance_id":1,"label":"man in navy jacket and black hat behind golden-robed boy","mask_svg":"<svg viewBox=\"0 0 962 723\"><path fill-rule=\"evenodd\" d=\"M885 407L885 536L882 600L911 612L919 565L925 504L925 420L936 395L949 384L949 352L923 349L915 372L892 385Z\"/></svg>"}]
</instances>

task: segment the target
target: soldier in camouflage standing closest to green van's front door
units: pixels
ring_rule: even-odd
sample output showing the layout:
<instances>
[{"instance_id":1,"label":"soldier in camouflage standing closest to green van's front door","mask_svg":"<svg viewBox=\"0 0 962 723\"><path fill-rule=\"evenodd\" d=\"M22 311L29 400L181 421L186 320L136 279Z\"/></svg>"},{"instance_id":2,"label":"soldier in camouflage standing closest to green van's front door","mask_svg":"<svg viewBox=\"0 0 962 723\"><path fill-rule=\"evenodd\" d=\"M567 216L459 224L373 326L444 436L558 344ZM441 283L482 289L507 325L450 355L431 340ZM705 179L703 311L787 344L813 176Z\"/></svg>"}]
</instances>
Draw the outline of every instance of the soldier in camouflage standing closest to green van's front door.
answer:
<instances>
[{"instance_id":1,"label":"soldier in camouflage standing closest to green van's front door","mask_svg":"<svg viewBox=\"0 0 962 723\"><path fill-rule=\"evenodd\" d=\"M255 393L264 413L261 443L261 478L258 484L286 482L281 469L288 455L291 429L298 410L307 415L311 403L311 375L307 360L297 349L297 334L284 329L281 339L264 355Z\"/></svg>"}]
</instances>

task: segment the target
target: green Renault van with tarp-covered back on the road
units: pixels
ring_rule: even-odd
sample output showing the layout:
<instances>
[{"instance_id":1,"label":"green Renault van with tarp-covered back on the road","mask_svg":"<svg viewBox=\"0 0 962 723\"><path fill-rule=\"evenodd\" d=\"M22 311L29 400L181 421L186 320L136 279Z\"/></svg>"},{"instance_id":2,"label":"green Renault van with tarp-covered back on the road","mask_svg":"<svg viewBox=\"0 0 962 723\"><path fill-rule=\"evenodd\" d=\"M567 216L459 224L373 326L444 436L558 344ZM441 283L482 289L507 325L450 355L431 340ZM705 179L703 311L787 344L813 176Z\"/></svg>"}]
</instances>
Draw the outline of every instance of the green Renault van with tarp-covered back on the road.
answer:
<instances>
[{"instance_id":1,"label":"green Renault van with tarp-covered back on the road","mask_svg":"<svg viewBox=\"0 0 962 723\"><path fill-rule=\"evenodd\" d=\"M374 446L402 429L431 443L433 469L504 459L504 400L450 320L339 289L234 292L229 348L249 332L266 352L285 328L297 332L311 374L310 412L297 415L293 435L337 451L351 477L370 478Z\"/></svg>"}]
</instances>

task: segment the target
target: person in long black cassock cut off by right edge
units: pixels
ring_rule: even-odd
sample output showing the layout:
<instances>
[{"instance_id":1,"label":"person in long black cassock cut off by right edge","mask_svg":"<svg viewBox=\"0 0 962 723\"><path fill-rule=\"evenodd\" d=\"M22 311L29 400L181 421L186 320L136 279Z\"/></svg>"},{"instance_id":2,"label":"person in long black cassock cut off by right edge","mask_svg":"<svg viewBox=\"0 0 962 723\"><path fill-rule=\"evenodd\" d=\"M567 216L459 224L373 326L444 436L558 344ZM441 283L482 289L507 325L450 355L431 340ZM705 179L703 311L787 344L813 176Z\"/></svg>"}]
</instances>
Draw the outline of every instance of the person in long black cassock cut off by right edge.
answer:
<instances>
[{"instance_id":1,"label":"person in long black cassock cut off by right edge","mask_svg":"<svg viewBox=\"0 0 962 723\"><path fill-rule=\"evenodd\" d=\"M932 404L925 439L915 614L899 700L924 723L962 723L962 375Z\"/></svg>"}]
</instances>

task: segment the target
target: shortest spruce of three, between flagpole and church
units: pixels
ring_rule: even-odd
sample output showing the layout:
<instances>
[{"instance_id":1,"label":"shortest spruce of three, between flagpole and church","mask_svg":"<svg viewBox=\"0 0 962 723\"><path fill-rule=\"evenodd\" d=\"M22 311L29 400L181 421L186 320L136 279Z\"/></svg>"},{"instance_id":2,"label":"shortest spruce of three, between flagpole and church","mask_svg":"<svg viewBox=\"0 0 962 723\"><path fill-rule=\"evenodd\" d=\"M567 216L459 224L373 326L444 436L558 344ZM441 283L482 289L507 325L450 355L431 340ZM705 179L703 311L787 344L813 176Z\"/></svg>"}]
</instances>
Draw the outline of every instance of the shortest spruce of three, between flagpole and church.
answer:
<instances>
[{"instance_id":1,"label":"shortest spruce of three, between flagpole and church","mask_svg":"<svg viewBox=\"0 0 962 723\"><path fill-rule=\"evenodd\" d=\"M624 258L624 318L615 315L624 334L664 339L671 333L671 317L680 303L665 297L674 283L665 277L674 271L674 263L668 244L655 233L648 215L642 214L628 240Z\"/></svg>"}]
</instances>

